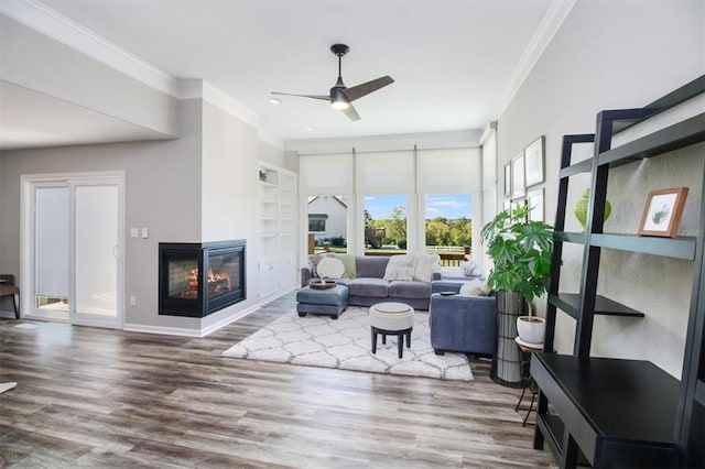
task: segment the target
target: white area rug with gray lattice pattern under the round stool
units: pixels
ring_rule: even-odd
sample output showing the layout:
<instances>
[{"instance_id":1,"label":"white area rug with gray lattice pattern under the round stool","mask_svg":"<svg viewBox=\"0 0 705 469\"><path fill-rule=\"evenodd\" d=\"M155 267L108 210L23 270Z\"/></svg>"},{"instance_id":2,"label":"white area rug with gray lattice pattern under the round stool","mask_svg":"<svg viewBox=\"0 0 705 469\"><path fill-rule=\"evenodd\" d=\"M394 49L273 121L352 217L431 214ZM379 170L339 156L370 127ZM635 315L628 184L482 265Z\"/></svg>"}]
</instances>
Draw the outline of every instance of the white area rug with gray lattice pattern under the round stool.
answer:
<instances>
[{"instance_id":1,"label":"white area rug with gray lattice pattern under the round stool","mask_svg":"<svg viewBox=\"0 0 705 469\"><path fill-rule=\"evenodd\" d=\"M443 380L473 380L463 353L436 356L431 348L429 313L414 314L411 348L399 358L397 337L377 341L371 351L368 308L348 307L338 319L296 312L280 317L223 353L225 357L275 361L310 367L339 368L373 373L427 377Z\"/></svg>"}]
</instances>

